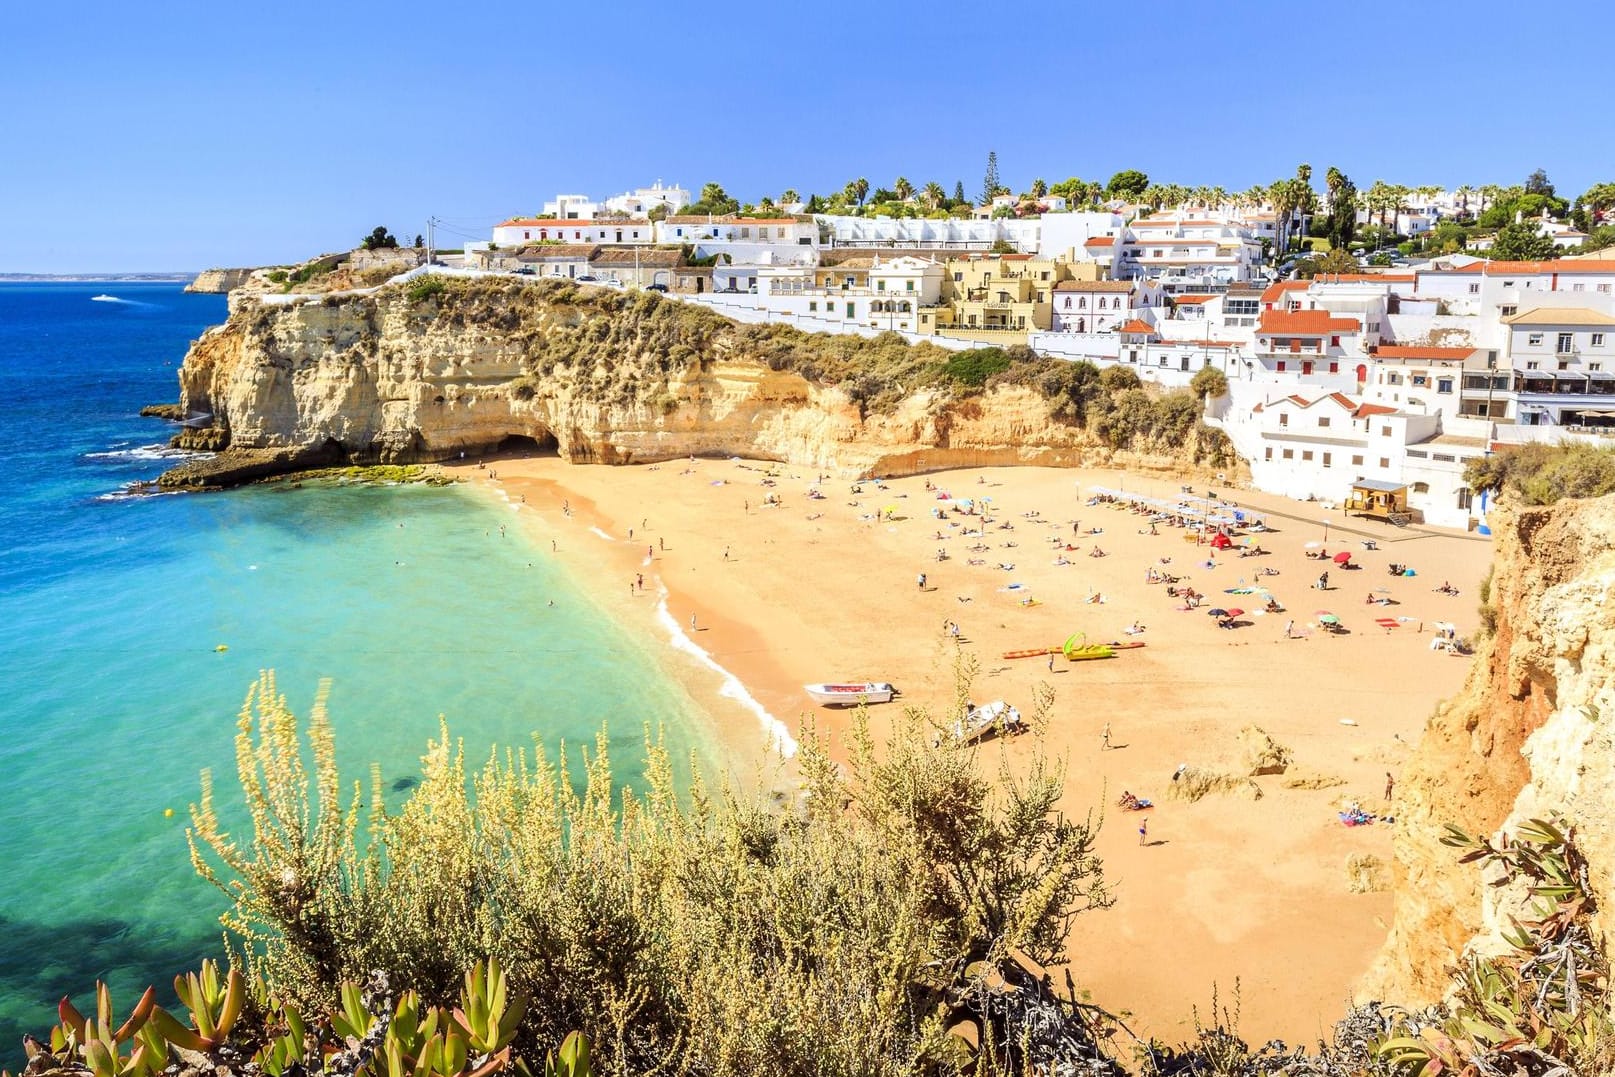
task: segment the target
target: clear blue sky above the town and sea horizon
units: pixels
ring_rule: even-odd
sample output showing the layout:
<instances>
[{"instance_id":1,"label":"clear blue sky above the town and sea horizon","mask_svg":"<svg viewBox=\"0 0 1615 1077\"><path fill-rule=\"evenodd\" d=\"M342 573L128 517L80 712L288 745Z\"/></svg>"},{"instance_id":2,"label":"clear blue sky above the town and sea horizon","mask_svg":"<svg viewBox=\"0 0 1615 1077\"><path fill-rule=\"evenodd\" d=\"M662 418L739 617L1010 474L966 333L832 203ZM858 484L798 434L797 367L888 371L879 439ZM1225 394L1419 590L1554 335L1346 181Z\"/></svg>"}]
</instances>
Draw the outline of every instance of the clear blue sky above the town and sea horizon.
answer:
<instances>
[{"instance_id":1,"label":"clear blue sky above the town and sea horizon","mask_svg":"<svg viewBox=\"0 0 1615 1077\"><path fill-rule=\"evenodd\" d=\"M0 271L291 262L428 215L486 237L657 178L974 194L988 150L1016 189L1140 168L1235 191L1298 161L1319 186L1615 179L1600 5L1000 10L19 0Z\"/></svg>"}]
</instances>

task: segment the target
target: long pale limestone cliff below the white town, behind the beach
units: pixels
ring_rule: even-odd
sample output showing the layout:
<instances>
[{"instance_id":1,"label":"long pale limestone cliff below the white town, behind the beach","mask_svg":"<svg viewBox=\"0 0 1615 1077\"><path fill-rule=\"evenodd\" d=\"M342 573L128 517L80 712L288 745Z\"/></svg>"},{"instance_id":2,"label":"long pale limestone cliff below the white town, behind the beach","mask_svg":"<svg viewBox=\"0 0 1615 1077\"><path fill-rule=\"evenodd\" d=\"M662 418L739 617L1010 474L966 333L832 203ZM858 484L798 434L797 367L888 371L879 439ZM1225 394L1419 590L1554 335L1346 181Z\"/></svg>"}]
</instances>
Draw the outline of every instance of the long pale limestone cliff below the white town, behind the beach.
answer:
<instances>
[{"instance_id":1,"label":"long pale limestone cliff below the white town, behind the beach","mask_svg":"<svg viewBox=\"0 0 1615 1077\"><path fill-rule=\"evenodd\" d=\"M654 292L565 283L418 278L367 294L237 292L229 321L181 368L208 450L323 446L354 462L412 463L526 439L573 462L743 455L835 473L982 463L1168 467L1118 455L1056 418L1032 384L959 391L946 352L741 326ZM1066 402L1069 409L1069 400ZM1214 467L1226 462L1213 460Z\"/></svg>"}]
</instances>

